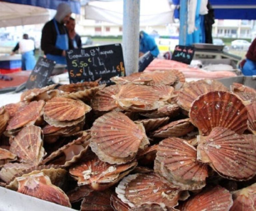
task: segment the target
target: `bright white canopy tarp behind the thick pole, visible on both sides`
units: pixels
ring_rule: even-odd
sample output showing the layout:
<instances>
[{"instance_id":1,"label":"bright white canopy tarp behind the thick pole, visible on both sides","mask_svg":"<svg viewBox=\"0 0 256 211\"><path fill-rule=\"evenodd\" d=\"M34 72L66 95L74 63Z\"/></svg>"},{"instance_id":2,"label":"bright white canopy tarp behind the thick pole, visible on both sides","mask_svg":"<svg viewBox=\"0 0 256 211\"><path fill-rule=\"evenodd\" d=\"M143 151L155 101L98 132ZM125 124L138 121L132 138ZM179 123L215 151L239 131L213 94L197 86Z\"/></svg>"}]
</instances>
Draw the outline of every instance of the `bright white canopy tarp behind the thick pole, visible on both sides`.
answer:
<instances>
[{"instance_id":1,"label":"bright white canopy tarp behind the thick pole, visible on both sides","mask_svg":"<svg viewBox=\"0 0 256 211\"><path fill-rule=\"evenodd\" d=\"M140 26L173 23L174 5L168 0L141 0ZM85 19L123 24L123 1L90 1L85 5Z\"/></svg>"}]
</instances>

